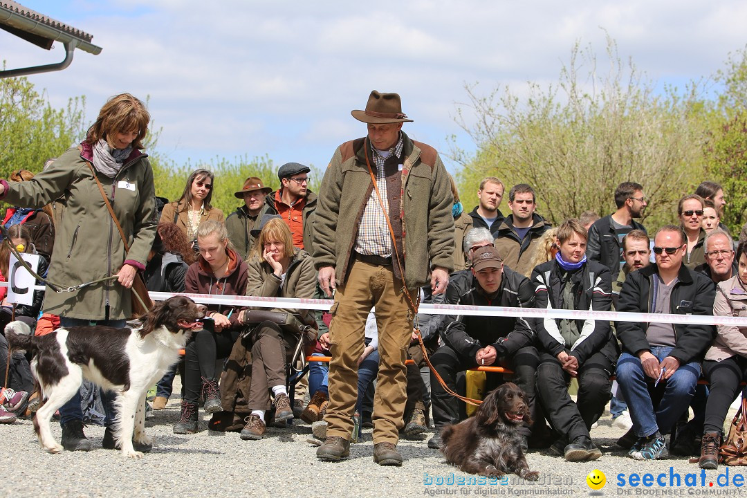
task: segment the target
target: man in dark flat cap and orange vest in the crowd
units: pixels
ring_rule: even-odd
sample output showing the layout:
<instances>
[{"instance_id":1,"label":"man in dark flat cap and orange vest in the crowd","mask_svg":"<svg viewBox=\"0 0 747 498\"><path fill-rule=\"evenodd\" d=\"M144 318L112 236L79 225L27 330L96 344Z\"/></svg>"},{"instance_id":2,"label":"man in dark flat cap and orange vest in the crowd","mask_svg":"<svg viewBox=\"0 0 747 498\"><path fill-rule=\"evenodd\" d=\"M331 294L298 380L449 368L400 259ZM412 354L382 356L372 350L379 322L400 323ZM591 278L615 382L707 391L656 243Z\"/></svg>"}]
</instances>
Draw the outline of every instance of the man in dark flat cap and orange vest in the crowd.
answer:
<instances>
[{"instance_id":1,"label":"man in dark flat cap and orange vest in the crowd","mask_svg":"<svg viewBox=\"0 0 747 498\"><path fill-rule=\"evenodd\" d=\"M309 190L309 166L286 163L278 169L280 188L270 192L264 202L270 206L270 214L279 214L291 228L293 245L306 249L311 254L314 222L311 220L317 208L317 194Z\"/></svg>"}]
</instances>

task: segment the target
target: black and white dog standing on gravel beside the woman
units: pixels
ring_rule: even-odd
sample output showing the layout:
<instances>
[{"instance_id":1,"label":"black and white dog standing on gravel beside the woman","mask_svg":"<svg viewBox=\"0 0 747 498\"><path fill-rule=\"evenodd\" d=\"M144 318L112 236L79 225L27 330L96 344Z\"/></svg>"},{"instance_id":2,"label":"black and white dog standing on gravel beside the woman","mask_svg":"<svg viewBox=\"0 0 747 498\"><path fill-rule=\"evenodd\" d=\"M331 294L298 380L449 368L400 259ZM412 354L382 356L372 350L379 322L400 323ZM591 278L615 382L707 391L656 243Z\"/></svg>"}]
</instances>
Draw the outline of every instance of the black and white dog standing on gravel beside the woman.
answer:
<instances>
[{"instance_id":1,"label":"black and white dog standing on gravel beside the woman","mask_svg":"<svg viewBox=\"0 0 747 498\"><path fill-rule=\"evenodd\" d=\"M34 430L43 449L61 452L49 420L81 387L83 378L117 393L117 447L125 457L140 458L134 441L152 444L145 434L148 389L179 360L192 331L202 329L205 306L184 296L157 303L136 329L105 326L69 327L34 337L22 322L5 326L13 349L35 352L31 370L39 382L44 405L34 417Z\"/></svg>"}]
</instances>

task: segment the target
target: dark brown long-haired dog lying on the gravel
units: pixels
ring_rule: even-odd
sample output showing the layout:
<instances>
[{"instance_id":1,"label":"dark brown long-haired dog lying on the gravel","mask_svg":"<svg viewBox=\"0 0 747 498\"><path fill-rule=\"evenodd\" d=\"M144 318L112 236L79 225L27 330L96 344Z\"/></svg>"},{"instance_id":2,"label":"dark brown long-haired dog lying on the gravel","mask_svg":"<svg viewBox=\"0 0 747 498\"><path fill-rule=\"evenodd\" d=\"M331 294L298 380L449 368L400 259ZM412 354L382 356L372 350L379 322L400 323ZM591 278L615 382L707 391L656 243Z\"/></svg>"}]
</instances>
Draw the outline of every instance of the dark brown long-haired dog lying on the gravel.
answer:
<instances>
[{"instance_id":1,"label":"dark brown long-haired dog lying on the gravel","mask_svg":"<svg viewBox=\"0 0 747 498\"><path fill-rule=\"evenodd\" d=\"M441 431L441 452L449 463L463 472L500 477L515 473L521 479L536 481L521 449L522 423L531 425L524 391L506 382L483 400L473 417L446 426Z\"/></svg>"}]
</instances>

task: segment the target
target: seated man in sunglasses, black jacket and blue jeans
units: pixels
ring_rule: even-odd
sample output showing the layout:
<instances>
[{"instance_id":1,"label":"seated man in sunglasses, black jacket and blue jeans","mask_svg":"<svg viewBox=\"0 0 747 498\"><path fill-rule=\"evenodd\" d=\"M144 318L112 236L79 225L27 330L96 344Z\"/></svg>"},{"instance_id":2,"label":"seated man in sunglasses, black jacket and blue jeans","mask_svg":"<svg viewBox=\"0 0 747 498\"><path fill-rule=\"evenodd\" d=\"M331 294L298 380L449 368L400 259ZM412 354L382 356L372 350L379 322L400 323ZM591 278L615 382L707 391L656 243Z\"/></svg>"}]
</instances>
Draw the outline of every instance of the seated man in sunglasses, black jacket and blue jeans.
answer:
<instances>
[{"instance_id":1,"label":"seated man in sunglasses, black jacket and blue jeans","mask_svg":"<svg viewBox=\"0 0 747 498\"><path fill-rule=\"evenodd\" d=\"M618 311L713 314L715 287L706 276L684 266L686 241L681 227L666 225L657 231L656 264L627 276ZM669 451L664 436L695 394L700 363L716 329L693 323L621 321L617 334L623 350L617 382L638 436L628 454L636 460L665 458ZM654 405L652 399L658 398L660 402Z\"/></svg>"}]
</instances>

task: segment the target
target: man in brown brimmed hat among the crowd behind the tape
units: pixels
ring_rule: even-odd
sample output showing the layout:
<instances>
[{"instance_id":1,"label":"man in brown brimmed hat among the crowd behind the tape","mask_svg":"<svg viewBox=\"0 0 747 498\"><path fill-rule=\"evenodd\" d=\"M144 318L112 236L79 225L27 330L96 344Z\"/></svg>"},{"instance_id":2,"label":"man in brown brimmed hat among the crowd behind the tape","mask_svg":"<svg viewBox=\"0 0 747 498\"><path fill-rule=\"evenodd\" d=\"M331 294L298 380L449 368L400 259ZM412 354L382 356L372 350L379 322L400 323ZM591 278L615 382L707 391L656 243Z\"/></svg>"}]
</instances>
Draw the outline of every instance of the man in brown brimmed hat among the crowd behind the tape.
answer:
<instances>
[{"instance_id":1,"label":"man in brown brimmed hat among the crowd behind the tape","mask_svg":"<svg viewBox=\"0 0 747 498\"><path fill-rule=\"evenodd\" d=\"M272 190L260 178L250 176L244 180L241 190L234 193L236 198L244 199L244 205L229 214L226 218L226 229L229 231L229 240L236 252L241 255L241 259L246 259L254 246L255 237L251 232L252 229L259 227L261 215L270 209L270 206L265 204L264 198Z\"/></svg>"}]
</instances>

